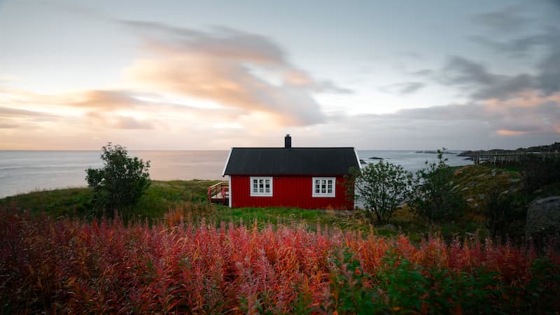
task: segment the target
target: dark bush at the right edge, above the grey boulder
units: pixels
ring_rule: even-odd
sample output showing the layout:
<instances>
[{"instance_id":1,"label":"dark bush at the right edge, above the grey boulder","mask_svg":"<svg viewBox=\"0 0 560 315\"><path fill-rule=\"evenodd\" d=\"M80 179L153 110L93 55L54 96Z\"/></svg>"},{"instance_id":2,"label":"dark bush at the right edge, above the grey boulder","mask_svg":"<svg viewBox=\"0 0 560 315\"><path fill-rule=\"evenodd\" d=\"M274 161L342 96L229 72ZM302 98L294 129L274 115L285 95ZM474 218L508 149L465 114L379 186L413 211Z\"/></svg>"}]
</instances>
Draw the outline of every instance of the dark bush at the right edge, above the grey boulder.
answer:
<instances>
[{"instance_id":1,"label":"dark bush at the right edge, above the grey boulder","mask_svg":"<svg viewBox=\"0 0 560 315\"><path fill-rule=\"evenodd\" d=\"M521 181L528 193L560 182L560 158L528 154L521 161Z\"/></svg>"}]
</instances>

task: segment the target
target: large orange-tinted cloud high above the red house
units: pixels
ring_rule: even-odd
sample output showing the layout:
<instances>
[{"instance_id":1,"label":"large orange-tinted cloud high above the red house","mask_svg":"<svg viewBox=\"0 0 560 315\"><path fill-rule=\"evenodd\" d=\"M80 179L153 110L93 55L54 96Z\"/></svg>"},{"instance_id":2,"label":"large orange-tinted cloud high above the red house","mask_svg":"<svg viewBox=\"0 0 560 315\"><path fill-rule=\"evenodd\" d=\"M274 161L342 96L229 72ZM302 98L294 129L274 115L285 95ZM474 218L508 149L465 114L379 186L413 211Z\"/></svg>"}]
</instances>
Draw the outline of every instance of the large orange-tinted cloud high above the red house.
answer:
<instances>
[{"instance_id":1,"label":"large orange-tinted cloud high above the red house","mask_svg":"<svg viewBox=\"0 0 560 315\"><path fill-rule=\"evenodd\" d=\"M125 76L144 90L206 99L246 114L265 113L284 126L325 122L314 92L351 92L292 66L286 52L262 35L225 27L199 31L120 22L140 31L155 54L125 69Z\"/></svg>"}]
</instances>

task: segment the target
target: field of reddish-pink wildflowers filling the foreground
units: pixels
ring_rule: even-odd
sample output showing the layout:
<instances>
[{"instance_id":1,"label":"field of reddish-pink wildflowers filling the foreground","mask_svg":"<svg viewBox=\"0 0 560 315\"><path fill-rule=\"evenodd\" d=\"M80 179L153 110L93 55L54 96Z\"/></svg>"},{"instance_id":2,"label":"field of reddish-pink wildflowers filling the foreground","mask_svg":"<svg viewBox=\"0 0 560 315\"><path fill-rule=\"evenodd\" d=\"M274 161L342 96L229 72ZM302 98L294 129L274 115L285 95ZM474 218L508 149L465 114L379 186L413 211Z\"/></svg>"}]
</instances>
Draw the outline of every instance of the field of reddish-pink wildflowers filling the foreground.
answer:
<instances>
[{"instance_id":1,"label":"field of reddish-pink wildflowers filling the foreground","mask_svg":"<svg viewBox=\"0 0 560 315\"><path fill-rule=\"evenodd\" d=\"M554 314L559 295L552 249L0 211L3 314Z\"/></svg>"}]
</instances>

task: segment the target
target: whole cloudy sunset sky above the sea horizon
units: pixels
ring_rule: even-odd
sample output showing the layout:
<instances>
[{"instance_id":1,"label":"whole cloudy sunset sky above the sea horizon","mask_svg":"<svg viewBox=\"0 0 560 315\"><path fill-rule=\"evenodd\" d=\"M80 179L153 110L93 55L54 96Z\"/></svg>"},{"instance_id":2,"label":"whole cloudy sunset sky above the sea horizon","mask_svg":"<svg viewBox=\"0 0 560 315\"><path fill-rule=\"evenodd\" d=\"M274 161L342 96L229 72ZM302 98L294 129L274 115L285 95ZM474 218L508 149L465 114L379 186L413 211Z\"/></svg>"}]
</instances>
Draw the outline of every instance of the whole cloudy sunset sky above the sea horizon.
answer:
<instances>
[{"instance_id":1,"label":"whole cloudy sunset sky above the sea horizon","mask_svg":"<svg viewBox=\"0 0 560 315\"><path fill-rule=\"evenodd\" d=\"M0 150L560 141L560 0L0 0Z\"/></svg>"}]
</instances>

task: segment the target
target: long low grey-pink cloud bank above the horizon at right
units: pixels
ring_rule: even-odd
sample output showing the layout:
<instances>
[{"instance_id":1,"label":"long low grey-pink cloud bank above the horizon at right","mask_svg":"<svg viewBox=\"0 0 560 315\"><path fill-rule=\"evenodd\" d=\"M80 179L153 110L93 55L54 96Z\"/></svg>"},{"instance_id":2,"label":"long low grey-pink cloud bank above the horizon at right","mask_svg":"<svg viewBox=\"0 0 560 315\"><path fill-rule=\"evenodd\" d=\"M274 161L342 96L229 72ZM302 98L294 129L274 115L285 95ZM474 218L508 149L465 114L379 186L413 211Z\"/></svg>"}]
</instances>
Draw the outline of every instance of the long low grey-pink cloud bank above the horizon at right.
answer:
<instances>
[{"instance_id":1,"label":"long low grey-pink cloud bank above the horizon at right","mask_svg":"<svg viewBox=\"0 0 560 315\"><path fill-rule=\"evenodd\" d=\"M526 92L516 99L471 101L391 114L341 115L320 132L366 149L518 148L557 141L560 135L560 94ZM332 137L332 138L331 138Z\"/></svg>"}]
</instances>

